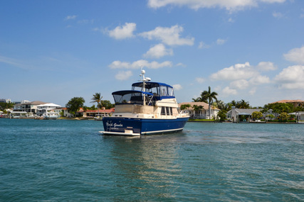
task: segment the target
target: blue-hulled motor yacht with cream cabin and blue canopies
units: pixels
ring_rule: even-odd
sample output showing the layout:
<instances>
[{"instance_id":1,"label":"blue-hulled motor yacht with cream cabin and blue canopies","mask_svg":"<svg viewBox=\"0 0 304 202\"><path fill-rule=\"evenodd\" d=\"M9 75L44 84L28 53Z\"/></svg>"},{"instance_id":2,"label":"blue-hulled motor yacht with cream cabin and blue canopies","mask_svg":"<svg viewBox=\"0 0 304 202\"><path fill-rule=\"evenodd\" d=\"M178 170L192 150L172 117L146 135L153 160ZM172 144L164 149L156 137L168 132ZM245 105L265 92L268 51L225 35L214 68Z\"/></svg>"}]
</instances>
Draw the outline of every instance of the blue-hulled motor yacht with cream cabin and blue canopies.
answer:
<instances>
[{"instance_id":1,"label":"blue-hulled motor yacht with cream cabin and blue canopies","mask_svg":"<svg viewBox=\"0 0 304 202\"><path fill-rule=\"evenodd\" d=\"M115 112L103 117L104 135L152 135L182 131L189 114L179 111L173 87L151 82L142 69L131 90L115 91Z\"/></svg>"}]
</instances>

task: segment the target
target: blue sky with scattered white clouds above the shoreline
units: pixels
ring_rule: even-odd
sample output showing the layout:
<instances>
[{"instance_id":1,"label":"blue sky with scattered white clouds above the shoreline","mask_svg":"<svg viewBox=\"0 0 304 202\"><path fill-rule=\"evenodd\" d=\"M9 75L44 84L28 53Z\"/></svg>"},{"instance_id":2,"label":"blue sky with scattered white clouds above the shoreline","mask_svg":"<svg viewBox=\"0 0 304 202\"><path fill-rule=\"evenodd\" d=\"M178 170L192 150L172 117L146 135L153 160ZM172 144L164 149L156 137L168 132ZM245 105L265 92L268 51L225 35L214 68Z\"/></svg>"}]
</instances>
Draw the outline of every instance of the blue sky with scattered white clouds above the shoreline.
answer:
<instances>
[{"instance_id":1,"label":"blue sky with scattered white clouds above the shoreline","mask_svg":"<svg viewBox=\"0 0 304 202\"><path fill-rule=\"evenodd\" d=\"M0 0L0 99L113 103L141 67L179 103L304 100L304 1Z\"/></svg>"}]
</instances>

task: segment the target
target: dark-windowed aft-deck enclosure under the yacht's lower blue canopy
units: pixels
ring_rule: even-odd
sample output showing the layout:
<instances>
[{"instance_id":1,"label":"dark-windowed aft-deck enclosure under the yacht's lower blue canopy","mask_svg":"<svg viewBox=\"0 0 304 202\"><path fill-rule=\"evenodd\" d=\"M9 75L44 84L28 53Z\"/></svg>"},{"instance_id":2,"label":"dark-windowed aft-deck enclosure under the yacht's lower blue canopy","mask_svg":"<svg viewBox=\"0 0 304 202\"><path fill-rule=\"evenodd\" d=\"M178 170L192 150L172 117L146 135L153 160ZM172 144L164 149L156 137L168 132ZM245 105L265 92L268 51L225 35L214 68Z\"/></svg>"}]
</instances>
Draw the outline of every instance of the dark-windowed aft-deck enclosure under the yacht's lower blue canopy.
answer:
<instances>
[{"instance_id":1,"label":"dark-windowed aft-deck enclosure under the yacht's lower blue canopy","mask_svg":"<svg viewBox=\"0 0 304 202\"><path fill-rule=\"evenodd\" d=\"M147 105L152 105L153 94L142 91L116 91L112 93L115 104L143 105L144 96Z\"/></svg>"}]
</instances>

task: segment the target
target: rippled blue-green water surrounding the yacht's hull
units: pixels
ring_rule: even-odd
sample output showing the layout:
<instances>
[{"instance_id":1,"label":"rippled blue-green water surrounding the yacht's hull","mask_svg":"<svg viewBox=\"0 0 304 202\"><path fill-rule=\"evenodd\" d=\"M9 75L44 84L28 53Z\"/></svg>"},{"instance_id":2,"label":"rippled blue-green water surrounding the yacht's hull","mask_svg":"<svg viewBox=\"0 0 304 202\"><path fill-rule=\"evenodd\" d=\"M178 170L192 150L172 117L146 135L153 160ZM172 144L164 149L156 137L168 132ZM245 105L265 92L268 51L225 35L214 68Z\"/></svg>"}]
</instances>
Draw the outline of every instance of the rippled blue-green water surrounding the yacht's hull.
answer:
<instances>
[{"instance_id":1,"label":"rippled blue-green water surrounding the yacht's hull","mask_svg":"<svg viewBox=\"0 0 304 202\"><path fill-rule=\"evenodd\" d=\"M304 124L140 138L102 124L0 119L0 201L304 201Z\"/></svg>"}]
</instances>

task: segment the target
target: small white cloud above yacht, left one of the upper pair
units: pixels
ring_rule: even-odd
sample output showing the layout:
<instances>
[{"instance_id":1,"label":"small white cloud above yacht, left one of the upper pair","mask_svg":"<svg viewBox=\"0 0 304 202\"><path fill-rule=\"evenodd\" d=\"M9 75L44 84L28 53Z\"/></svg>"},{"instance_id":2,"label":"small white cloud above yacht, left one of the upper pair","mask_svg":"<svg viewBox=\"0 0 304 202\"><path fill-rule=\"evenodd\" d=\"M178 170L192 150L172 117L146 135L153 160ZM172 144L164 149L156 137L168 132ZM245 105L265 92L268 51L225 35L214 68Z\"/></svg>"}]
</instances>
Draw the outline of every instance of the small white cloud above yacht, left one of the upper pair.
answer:
<instances>
[{"instance_id":1,"label":"small white cloud above yacht, left one of the upper pair","mask_svg":"<svg viewBox=\"0 0 304 202\"><path fill-rule=\"evenodd\" d=\"M96 30L96 29L95 29ZM125 23L124 26L117 26L113 30L103 30L105 33L107 33L110 37L115 39L125 39L125 38L132 38L135 35L133 35L133 32L136 30L136 23Z\"/></svg>"}]
</instances>

